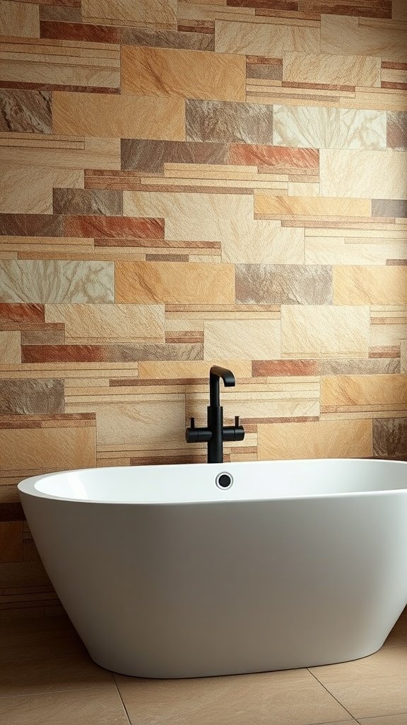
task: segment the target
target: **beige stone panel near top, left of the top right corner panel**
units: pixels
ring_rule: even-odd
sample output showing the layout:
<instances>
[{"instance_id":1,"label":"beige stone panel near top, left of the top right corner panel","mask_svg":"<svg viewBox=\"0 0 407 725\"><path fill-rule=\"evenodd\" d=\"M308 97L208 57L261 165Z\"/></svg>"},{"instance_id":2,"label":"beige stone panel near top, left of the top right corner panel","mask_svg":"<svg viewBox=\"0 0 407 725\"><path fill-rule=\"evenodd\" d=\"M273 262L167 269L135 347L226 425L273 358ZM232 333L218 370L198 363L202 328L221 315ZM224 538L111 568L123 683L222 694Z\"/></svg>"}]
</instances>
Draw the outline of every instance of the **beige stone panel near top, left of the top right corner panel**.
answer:
<instances>
[{"instance_id":1,"label":"beige stone panel near top, left of the top right corner panel","mask_svg":"<svg viewBox=\"0 0 407 725\"><path fill-rule=\"evenodd\" d=\"M215 23L215 51L282 58L284 53L314 53L319 49L319 28L269 22Z\"/></svg>"}]
</instances>

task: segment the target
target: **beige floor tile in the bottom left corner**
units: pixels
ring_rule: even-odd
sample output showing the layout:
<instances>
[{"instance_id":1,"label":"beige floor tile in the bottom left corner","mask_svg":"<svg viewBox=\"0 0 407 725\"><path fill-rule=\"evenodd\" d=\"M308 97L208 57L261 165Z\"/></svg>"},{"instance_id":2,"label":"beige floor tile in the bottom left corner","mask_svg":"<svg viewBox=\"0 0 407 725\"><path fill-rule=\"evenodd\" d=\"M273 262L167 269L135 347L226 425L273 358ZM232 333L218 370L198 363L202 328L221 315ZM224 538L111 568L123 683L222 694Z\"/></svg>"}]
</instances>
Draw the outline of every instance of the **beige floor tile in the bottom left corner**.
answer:
<instances>
[{"instance_id":1,"label":"beige floor tile in the bottom left corner","mask_svg":"<svg viewBox=\"0 0 407 725\"><path fill-rule=\"evenodd\" d=\"M114 685L102 690L2 697L0 721L7 725L126 725L129 722Z\"/></svg>"}]
</instances>

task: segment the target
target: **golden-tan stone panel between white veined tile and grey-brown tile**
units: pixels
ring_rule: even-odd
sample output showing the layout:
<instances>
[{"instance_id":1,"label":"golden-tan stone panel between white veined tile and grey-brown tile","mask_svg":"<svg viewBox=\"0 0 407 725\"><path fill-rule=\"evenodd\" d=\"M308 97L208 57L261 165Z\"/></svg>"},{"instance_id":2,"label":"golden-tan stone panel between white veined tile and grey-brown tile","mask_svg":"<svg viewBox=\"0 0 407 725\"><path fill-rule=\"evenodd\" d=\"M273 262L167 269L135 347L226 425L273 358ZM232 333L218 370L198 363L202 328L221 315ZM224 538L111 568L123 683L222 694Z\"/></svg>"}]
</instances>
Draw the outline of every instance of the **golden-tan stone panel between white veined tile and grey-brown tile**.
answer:
<instances>
[{"instance_id":1,"label":"golden-tan stone panel between white veined tile and grey-brown tile","mask_svg":"<svg viewBox=\"0 0 407 725\"><path fill-rule=\"evenodd\" d=\"M235 301L235 269L198 262L117 262L116 302L180 304Z\"/></svg>"}]
</instances>

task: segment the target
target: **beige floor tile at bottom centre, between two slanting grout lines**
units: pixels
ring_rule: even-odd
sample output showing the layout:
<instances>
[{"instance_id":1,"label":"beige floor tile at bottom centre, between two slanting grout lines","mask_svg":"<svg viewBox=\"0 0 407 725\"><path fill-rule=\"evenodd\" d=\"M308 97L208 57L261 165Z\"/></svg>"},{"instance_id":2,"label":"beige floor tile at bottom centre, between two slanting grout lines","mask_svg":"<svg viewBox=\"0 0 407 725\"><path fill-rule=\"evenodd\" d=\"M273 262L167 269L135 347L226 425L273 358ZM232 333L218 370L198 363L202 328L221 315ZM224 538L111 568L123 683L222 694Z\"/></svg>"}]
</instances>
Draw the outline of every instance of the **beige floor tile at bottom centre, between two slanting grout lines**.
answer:
<instances>
[{"instance_id":1,"label":"beige floor tile at bottom centre, between two slanting grout lines","mask_svg":"<svg viewBox=\"0 0 407 725\"><path fill-rule=\"evenodd\" d=\"M311 725L349 720L303 670L146 680L117 676L133 725Z\"/></svg>"}]
</instances>

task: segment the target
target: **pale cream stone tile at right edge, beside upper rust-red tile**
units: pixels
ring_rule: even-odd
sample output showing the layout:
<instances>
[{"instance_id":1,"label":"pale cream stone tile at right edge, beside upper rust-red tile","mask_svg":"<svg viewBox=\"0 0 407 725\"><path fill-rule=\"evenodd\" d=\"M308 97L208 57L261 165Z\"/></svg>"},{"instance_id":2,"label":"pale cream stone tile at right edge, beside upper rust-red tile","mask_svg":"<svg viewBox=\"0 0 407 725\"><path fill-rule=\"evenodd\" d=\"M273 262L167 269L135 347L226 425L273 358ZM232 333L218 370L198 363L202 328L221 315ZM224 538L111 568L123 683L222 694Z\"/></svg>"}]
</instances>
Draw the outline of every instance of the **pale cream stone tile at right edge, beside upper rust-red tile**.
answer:
<instances>
[{"instance_id":1,"label":"pale cream stone tile at right edge, beside upper rust-red tile","mask_svg":"<svg viewBox=\"0 0 407 725\"><path fill-rule=\"evenodd\" d=\"M319 159L321 196L407 198L406 152L322 149Z\"/></svg>"}]
</instances>

